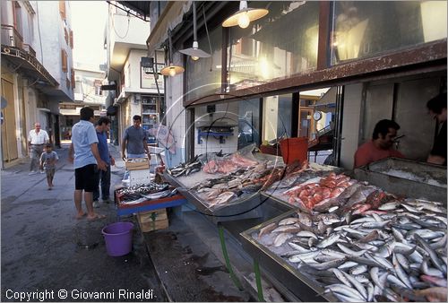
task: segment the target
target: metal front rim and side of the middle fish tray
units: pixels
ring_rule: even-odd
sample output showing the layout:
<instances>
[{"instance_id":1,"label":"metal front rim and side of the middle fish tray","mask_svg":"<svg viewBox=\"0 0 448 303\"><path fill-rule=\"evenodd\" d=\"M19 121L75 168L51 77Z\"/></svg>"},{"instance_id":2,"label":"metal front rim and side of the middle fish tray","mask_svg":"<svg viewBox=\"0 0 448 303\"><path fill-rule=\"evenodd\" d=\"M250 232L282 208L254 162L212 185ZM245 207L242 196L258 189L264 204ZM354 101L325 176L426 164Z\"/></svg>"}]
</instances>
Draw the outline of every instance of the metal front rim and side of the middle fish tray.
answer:
<instances>
[{"instance_id":1,"label":"metal front rim and side of the middle fish tray","mask_svg":"<svg viewBox=\"0 0 448 303\"><path fill-rule=\"evenodd\" d=\"M206 204L202 203L202 199L191 193L185 186L180 183L176 177L172 177L168 173L164 173L163 177L173 186L177 187L179 193L185 196L186 200L197 208L199 212L210 217L211 221L218 223L220 221L237 221L242 219L252 219L263 217L263 211L260 207L263 203L259 193L250 195L243 199L238 199L219 209L211 210Z\"/></svg>"}]
</instances>

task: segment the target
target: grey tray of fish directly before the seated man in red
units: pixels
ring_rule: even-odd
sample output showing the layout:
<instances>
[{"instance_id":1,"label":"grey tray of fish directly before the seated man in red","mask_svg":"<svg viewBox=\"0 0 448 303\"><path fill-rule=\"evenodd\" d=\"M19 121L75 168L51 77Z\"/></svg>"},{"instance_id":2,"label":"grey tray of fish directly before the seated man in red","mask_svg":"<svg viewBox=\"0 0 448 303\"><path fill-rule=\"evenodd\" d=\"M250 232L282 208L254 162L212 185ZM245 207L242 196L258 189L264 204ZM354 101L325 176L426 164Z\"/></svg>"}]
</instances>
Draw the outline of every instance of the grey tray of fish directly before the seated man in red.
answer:
<instances>
[{"instance_id":1,"label":"grey tray of fish directly before the seated man in red","mask_svg":"<svg viewBox=\"0 0 448 303\"><path fill-rule=\"evenodd\" d=\"M393 169L412 174L421 181L405 178L406 175L393 176ZM441 202L446 207L446 167L415 160L388 158L354 169L354 177L392 194Z\"/></svg>"}]
</instances>

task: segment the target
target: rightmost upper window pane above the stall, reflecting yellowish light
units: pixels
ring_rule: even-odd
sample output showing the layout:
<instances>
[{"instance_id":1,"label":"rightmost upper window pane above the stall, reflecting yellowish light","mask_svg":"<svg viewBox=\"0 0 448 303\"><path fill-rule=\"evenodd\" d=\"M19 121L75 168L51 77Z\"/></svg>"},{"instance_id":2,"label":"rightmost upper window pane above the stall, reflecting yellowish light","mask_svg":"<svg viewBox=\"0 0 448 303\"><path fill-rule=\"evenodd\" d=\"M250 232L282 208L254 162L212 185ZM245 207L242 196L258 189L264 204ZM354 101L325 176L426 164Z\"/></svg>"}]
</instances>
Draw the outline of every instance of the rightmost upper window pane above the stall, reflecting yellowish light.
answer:
<instances>
[{"instance_id":1,"label":"rightmost upper window pane above the stall, reflecting yellowish light","mask_svg":"<svg viewBox=\"0 0 448 303\"><path fill-rule=\"evenodd\" d=\"M446 38L445 1L335 1L332 64Z\"/></svg>"}]
</instances>

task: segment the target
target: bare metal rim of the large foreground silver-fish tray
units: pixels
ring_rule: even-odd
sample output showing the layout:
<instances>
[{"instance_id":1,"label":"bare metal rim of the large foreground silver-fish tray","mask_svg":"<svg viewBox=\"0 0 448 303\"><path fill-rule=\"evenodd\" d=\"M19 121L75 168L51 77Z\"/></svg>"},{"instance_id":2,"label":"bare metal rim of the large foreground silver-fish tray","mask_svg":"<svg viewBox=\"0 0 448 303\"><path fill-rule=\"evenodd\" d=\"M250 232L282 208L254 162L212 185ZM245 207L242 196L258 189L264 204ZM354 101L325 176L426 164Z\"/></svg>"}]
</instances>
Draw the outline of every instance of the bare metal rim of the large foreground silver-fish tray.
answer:
<instances>
[{"instance_id":1,"label":"bare metal rim of the large foreground silver-fish tray","mask_svg":"<svg viewBox=\"0 0 448 303\"><path fill-rule=\"evenodd\" d=\"M288 290L297 296L298 299L308 302L338 301L332 294L323 294L323 287L316 281L299 273L297 268L288 264L279 255L275 255L269 248L263 246L252 238L253 233L258 233L263 227L272 222L279 222L289 217L294 212L296 211L292 210L285 212L278 217L241 232L240 235L242 238L243 249L251 255L254 260L258 261L268 275L281 281Z\"/></svg>"}]
</instances>

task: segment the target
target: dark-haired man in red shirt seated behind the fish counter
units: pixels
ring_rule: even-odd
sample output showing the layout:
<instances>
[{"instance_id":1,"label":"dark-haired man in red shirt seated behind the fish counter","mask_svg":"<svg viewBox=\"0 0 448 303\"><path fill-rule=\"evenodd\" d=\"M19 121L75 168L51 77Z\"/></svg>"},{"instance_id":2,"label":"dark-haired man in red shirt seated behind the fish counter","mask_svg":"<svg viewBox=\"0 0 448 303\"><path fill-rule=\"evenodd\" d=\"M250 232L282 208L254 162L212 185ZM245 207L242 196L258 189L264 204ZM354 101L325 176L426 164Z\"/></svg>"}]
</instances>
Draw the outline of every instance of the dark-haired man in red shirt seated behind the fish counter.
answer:
<instances>
[{"instance_id":1,"label":"dark-haired man in red shirt seated behind the fish counter","mask_svg":"<svg viewBox=\"0 0 448 303\"><path fill-rule=\"evenodd\" d=\"M400 126L392 121L383 119L374 128L372 140L362 144L355 152L354 168L364 166L370 162L384 158L404 158L404 155L393 148L393 139L397 136Z\"/></svg>"}]
</instances>

